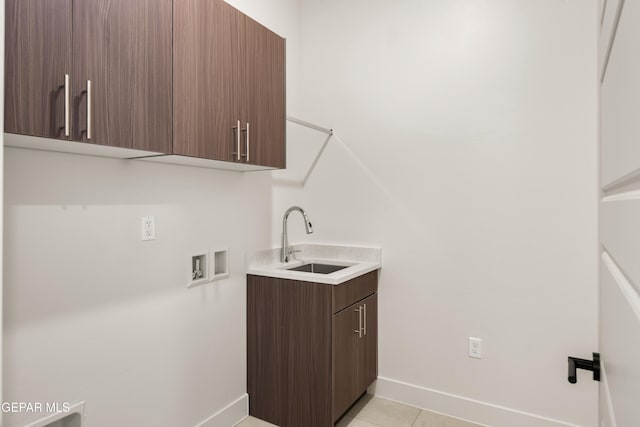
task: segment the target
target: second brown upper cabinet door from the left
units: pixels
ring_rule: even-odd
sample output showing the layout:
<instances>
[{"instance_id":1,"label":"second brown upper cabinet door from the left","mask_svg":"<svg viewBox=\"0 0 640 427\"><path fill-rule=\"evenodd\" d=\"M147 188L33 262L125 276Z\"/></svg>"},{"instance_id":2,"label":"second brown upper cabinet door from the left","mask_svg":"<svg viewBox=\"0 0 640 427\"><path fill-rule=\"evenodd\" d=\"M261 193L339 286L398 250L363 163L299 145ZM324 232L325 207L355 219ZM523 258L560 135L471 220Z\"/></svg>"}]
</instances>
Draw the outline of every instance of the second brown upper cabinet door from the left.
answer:
<instances>
[{"instance_id":1,"label":"second brown upper cabinet door from the left","mask_svg":"<svg viewBox=\"0 0 640 427\"><path fill-rule=\"evenodd\" d=\"M74 139L171 152L172 0L77 0Z\"/></svg>"}]
</instances>

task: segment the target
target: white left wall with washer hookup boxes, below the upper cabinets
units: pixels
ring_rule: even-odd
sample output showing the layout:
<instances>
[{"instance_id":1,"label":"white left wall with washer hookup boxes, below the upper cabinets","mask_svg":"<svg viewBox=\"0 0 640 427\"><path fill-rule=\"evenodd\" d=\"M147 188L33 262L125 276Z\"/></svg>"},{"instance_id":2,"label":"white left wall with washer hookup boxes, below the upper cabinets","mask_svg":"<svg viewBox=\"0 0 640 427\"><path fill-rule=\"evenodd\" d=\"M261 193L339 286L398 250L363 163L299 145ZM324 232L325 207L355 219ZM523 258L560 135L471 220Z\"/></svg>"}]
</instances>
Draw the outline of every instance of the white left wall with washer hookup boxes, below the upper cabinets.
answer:
<instances>
[{"instance_id":1,"label":"white left wall with washer hookup boxes, below the upper cabinets","mask_svg":"<svg viewBox=\"0 0 640 427\"><path fill-rule=\"evenodd\" d=\"M256 18L295 40L297 2L271 3ZM244 257L270 244L268 173L5 156L4 400L85 400L92 426L175 427L242 398ZM147 215L152 242L140 241ZM187 289L190 255L218 246L231 277ZM42 415L6 414L3 425Z\"/></svg>"}]
</instances>

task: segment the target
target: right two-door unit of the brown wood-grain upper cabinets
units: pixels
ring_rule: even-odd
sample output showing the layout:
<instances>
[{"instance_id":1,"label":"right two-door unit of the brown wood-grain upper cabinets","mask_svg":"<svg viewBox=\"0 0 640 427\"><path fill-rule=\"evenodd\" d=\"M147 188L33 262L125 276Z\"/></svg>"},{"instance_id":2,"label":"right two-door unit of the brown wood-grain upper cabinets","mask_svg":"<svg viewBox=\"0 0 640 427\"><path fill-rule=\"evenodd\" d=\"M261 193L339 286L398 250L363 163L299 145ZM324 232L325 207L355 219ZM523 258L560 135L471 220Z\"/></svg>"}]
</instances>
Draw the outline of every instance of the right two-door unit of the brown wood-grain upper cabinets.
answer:
<instances>
[{"instance_id":1,"label":"right two-door unit of the brown wood-grain upper cabinets","mask_svg":"<svg viewBox=\"0 0 640 427\"><path fill-rule=\"evenodd\" d=\"M174 2L173 153L285 166L285 40L222 0Z\"/></svg>"}]
</instances>

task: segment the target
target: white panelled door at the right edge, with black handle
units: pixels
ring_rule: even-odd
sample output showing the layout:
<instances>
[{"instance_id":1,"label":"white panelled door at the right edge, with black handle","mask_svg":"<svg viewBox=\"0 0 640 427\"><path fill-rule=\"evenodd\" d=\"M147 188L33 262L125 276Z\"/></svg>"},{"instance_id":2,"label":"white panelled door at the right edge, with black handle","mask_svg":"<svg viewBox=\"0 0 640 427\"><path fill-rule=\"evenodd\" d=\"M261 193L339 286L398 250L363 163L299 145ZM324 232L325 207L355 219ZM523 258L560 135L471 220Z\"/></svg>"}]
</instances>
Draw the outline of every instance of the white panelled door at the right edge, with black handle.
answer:
<instances>
[{"instance_id":1,"label":"white panelled door at the right edge, with black handle","mask_svg":"<svg viewBox=\"0 0 640 427\"><path fill-rule=\"evenodd\" d=\"M640 0L602 0L600 426L640 426Z\"/></svg>"}]
</instances>

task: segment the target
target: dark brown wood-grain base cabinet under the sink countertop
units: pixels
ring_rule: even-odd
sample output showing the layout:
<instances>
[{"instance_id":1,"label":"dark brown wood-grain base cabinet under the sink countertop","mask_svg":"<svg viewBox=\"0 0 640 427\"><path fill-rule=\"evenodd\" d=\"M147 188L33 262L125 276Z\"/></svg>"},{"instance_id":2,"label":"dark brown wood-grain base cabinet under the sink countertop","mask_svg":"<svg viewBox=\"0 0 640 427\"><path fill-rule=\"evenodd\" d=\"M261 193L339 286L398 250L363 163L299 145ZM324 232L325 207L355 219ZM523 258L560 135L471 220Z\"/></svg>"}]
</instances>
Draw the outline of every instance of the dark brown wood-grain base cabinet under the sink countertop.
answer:
<instances>
[{"instance_id":1,"label":"dark brown wood-grain base cabinet under the sink countertop","mask_svg":"<svg viewBox=\"0 0 640 427\"><path fill-rule=\"evenodd\" d=\"M329 427L377 377L378 272L340 285L247 277L249 413Z\"/></svg>"}]
</instances>

